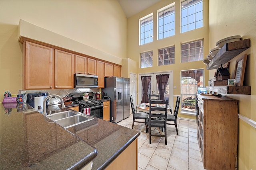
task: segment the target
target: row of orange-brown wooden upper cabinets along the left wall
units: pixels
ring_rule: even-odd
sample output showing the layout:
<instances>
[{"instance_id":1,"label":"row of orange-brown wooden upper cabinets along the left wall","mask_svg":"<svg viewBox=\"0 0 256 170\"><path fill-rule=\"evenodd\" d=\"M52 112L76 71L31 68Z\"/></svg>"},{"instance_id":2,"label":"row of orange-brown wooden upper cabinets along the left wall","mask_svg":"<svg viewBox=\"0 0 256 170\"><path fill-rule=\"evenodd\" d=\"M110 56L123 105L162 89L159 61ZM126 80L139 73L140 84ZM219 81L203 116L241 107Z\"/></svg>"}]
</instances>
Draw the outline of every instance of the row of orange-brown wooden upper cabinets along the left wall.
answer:
<instances>
[{"instance_id":1,"label":"row of orange-brown wooden upper cabinets along the left wall","mask_svg":"<svg viewBox=\"0 0 256 170\"><path fill-rule=\"evenodd\" d=\"M104 88L104 77L121 76L121 66L34 40L20 42L24 89L74 88L74 73L97 75L98 88Z\"/></svg>"}]
</instances>

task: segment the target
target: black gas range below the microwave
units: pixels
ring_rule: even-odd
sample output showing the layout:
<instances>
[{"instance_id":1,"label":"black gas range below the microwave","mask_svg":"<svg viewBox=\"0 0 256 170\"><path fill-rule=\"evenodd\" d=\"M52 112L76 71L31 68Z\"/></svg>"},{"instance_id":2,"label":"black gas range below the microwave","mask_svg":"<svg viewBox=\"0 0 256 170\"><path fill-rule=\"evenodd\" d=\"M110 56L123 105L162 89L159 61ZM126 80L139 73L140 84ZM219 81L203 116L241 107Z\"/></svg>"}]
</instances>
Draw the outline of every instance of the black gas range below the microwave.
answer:
<instances>
[{"instance_id":1,"label":"black gas range below the microwave","mask_svg":"<svg viewBox=\"0 0 256 170\"><path fill-rule=\"evenodd\" d=\"M90 115L94 117L98 117L103 119L103 101L93 99L93 93L89 93L89 100L84 101L83 95L84 93L72 93L75 94L74 100L72 102L74 104L79 104L79 111L84 113L85 108L90 108Z\"/></svg>"}]
</instances>

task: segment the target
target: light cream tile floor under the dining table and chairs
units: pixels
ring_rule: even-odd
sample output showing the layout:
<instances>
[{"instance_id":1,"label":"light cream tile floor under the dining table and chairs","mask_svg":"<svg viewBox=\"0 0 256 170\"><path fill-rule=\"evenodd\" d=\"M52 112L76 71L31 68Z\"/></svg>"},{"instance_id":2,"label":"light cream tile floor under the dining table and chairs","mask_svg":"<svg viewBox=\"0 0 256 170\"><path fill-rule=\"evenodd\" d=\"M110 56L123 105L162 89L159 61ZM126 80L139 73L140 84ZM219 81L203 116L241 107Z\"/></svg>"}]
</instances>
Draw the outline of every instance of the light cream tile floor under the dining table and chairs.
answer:
<instances>
[{"instance_id":1,"label":"light cream tile floor under the dining table and chairs","mask_svg":"<svg viewBox=\"0 0 256 170\"><path fill-rule=\"evenodd\" d=\"M149 144L144 123L134 123L134 130L141 132L138 137L138 170L204 170L196 122L178 119L177 124L179 135L176 135L174 125L167 125L165 145L164 137L151 137ZM118 125L131 129L132 115ZM152 133L159 132L152 128Z\"/></svg>"}]
</instances>

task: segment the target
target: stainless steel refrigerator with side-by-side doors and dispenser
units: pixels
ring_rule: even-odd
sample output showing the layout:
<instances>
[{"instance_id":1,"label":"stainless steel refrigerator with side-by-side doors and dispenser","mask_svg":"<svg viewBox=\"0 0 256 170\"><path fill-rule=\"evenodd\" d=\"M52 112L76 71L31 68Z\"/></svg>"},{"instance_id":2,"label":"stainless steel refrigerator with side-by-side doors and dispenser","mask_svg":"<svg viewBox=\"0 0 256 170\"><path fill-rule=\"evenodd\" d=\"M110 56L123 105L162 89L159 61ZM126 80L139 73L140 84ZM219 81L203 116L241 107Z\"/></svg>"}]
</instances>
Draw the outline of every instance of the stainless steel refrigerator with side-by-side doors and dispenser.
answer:
<instances>
[{"instance_id":1,"label":"stainless steel refrigerator with side-by-side doors and dispenser","mask_svg":"<svg viewBox=\"0 0 256 170\"><path fill-rule=\"evenodd\" d=\"M102 90L110 97L110 121L118 123L130 116L130 79L123 77L105 78Z\"/></svg>"}]
</instances>

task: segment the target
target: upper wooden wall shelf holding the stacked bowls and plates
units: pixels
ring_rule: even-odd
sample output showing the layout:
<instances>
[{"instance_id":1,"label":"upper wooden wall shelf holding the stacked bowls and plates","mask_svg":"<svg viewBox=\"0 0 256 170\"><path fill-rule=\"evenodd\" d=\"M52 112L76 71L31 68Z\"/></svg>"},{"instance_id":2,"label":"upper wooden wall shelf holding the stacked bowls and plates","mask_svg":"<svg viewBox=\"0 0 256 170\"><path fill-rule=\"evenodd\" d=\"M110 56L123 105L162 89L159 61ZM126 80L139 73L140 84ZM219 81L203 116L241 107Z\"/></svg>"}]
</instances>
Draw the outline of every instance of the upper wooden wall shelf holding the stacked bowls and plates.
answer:
<instances>
[{"instance_id":1,"label":"upper wooden wall shelf holding the stacked bowls and plates","mask_svg":"<svg viewBox=\"0 0 256 170\"><path fill-rule=\"evenodd\" d=\"M246 49L250 47L250 39L242 39L239 41L226 43L213 57L212 61L206 66L206 70L220 68L221 64L225 64Z\"/></svg>"}]
</instances>

